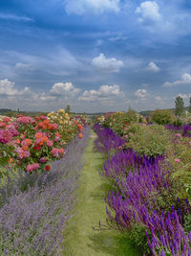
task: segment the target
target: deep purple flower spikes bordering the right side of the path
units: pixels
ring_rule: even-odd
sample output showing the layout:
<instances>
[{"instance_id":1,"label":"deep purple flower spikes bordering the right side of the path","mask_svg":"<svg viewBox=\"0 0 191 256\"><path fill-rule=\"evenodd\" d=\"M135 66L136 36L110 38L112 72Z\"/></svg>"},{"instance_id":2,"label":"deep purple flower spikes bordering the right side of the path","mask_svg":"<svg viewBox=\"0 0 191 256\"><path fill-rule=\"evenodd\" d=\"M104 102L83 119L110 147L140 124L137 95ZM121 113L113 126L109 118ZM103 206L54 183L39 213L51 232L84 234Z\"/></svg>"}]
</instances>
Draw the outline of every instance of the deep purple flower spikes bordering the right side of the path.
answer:
<instances>
[{"instance_id":1,"label":"deep purple flower spikes bordering the right side of the path","mask_svg":"<svg viewBox=\"0 0 191 256\"><path fill-rule=\"evenodd\" d=\"M110 139L110 132L95 127L104 145ZM100 145L96 149L100 151ZM184 177L174 178L175 166L183 161L183 156L173 161L168 154L150 158L118 147L100 172L115 184L115 192L109 192L106 198L110 208L107 209L108 224L125 232L144 255L191 255L188 194L177 196L184 190Z\"/></svg>"}]
</instances>

